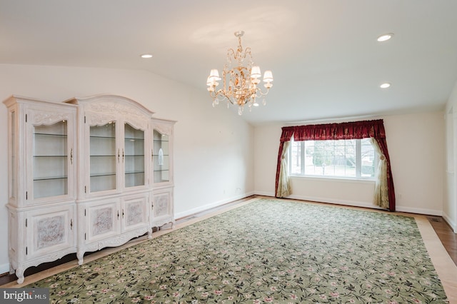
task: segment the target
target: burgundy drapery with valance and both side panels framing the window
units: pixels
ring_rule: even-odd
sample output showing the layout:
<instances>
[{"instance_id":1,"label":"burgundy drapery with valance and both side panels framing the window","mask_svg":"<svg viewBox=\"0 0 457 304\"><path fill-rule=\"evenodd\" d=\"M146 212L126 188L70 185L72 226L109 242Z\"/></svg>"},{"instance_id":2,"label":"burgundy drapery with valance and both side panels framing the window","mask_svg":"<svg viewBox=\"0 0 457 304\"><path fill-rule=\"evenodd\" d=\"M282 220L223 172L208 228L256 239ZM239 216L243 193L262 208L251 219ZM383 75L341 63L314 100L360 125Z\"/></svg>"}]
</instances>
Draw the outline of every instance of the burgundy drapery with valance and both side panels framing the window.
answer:
<instances>
[{"instance_id":1,"label":"burgundy drapery with valance and both side panels framing the window","mask_svg":"<svg viewBox=\"0 0 457 304\"><path fill-rule=\"evenodd\" d=\"M279 169L284 142L290 141L328 141L338 139L375 138L387 161L389 211L395 211L395 190L391 171L391 160L388 156L386 131L382 119L374 121L354 121L348 123L326 123L320 125L288 126L282 128L279 142L278 165L276 168L276 190L278 191Z\"/></svg>"}]
</instances>

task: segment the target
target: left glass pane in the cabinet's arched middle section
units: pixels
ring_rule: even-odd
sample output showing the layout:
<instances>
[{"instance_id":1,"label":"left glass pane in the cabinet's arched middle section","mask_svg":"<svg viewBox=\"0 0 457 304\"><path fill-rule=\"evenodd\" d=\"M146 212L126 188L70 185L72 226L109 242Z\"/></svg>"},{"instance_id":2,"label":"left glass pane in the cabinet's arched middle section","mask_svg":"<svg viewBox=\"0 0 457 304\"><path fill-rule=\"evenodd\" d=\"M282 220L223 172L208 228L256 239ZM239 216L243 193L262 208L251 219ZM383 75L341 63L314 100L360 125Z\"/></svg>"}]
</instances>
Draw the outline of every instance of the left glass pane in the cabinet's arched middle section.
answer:
<instances>
[{"instance_id":1,"label":"left glass pane in the cabinet's arched middle section","mask_svg":"<svg viewBox=\"0 0 457 304\"><path fill-rule=\"evenodd\" d=\"M89 145L91 192L116 189L116 123L91 126Z\"/></svg>"}]
</instances>

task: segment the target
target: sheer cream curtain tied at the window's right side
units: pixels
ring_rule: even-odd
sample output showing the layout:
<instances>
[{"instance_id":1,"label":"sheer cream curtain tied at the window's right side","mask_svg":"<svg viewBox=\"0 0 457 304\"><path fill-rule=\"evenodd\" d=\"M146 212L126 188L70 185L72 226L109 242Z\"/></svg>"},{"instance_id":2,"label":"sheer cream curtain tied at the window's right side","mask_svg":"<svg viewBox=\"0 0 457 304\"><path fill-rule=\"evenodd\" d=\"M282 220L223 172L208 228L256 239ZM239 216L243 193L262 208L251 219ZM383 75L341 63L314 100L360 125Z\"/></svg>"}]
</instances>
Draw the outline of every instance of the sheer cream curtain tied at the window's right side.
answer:
<instances>
[{"instance_id":1,"label":"sheer cream curtain tied at the window's right side","mask_svg":"<svg viewBox=\"0 0 457 304\"><path fill-rule=\"evenodd\" d=\"M378 142L375 138L370 138L371 145L378 153L378 170L376 171L376 183L374 186L374 201L373 203L381 208L389 208L388 202L388 181L387 181L387 161L386 156L381 151Z\"/></svg>"}]
</instances>

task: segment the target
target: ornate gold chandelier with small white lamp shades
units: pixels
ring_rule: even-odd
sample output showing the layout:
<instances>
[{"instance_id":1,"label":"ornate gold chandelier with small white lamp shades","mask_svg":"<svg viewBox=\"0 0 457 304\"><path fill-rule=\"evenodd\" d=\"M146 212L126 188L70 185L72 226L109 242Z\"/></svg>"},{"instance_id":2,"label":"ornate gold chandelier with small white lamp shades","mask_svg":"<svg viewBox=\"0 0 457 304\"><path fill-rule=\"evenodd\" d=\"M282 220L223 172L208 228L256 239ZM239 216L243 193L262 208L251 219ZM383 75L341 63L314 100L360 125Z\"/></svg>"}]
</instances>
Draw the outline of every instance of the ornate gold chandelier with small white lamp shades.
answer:
<instances>
[{"instance_id":1,"label":"ornate gold chandelier with small white lamp shades","mask_svg":"<svg viewBox=\"0 0 457 304\"><path fill-rule=\"evenodd\" d=\"M273 86L273 74L271 71L265 71L263 74L263 86L266 91L261 91L258 87L260 83L259 77L261 71L258 66L253 65L251 48L243 49L241 46L241 36L244 31L236 31L235 36L238 37L238 49L227 51L227 62L224 64L222 71L222 88L216 91L219 86L221 77L217 69L212 69L207 80L208 91L213 98L213 106L219 104L219 101L227 101L227 108L231 104L238 106L238 114L243 113L244 106L248 106L251 111L252 106L258 106L256 98L263 97L263 105L266 104L265 96L268 90Z\"/></svg>"}]
</instances>

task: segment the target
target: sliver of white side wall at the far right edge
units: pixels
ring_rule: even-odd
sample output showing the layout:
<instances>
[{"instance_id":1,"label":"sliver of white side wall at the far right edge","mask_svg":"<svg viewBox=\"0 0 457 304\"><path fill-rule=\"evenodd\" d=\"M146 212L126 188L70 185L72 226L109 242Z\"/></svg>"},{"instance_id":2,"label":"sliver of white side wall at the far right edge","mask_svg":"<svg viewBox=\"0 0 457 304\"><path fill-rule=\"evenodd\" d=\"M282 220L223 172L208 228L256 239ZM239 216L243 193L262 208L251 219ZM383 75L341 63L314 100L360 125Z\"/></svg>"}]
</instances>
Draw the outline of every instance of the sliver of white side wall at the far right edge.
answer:
<instances>
[{"instance_id":1,"label":"sliver of white side wall at the far right edge","mask_svg":"<svg viewBox=\"0 0 457 304\"><path fill-rule=\"evenodd\" d=\"M446 103L446 173L443 218L457 233L457 82Z\"/></svg>"}]
</instances>

